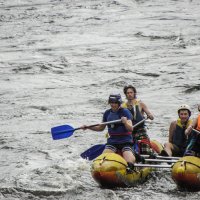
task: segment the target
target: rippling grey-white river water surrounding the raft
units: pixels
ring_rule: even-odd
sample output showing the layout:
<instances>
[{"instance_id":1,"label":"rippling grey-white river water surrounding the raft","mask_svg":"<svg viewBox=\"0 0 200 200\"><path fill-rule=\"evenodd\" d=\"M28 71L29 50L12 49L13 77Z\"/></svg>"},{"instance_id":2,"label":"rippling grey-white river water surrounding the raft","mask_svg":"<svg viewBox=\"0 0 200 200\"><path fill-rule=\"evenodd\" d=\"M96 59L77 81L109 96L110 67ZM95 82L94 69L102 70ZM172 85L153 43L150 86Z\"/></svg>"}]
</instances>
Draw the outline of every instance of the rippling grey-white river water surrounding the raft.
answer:
<instances>
[{"instance_id":1,"label":"rippling grey-white river water surrounding the raft","mask_svg":"<svg viewBox=\"0 0 200 200\"><path fill-rule=\"evenodd\" d=\"M80 153L105 132L50 133L101 122L109 94L133 84L163 143L180 104L198 113L199 65L199 0L0 0L0 199L199 199L167 169L102 189Z\"/></svg>"}]
</instances>

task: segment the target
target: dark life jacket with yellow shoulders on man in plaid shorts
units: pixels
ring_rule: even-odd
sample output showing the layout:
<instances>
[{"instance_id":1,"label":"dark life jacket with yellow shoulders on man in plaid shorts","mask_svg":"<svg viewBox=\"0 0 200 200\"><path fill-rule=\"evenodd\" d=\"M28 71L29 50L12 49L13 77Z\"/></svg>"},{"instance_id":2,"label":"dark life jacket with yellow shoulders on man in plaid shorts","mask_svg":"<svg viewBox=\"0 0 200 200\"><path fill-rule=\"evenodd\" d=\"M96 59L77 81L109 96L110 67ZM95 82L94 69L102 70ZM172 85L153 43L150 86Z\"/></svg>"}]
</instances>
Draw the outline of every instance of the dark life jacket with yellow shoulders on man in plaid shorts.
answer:
<instances>
[{"instance_id":1,"label":"dark life jacket with yellow shoulders on man in plaid shorts","mask_svg":"<svg viewBox=\"0 0 200 200\"><path fill-rule=\"evenodd\" d=\"M127 108L129 109L129 111L131 112L131 114L133 115L133 125L137 124L138 122L140 122L141 120L144 119L144 116L142 115L142 108L140 107L140 100L139 99L135 99L133 106L130 108L127 104L128 102L124 102L122 104L123 108ZM137 127L134 128L134 131L144 128L145 127L145 123L142 123L140 125L138 125Z\"/></svg>"}]
</instances>

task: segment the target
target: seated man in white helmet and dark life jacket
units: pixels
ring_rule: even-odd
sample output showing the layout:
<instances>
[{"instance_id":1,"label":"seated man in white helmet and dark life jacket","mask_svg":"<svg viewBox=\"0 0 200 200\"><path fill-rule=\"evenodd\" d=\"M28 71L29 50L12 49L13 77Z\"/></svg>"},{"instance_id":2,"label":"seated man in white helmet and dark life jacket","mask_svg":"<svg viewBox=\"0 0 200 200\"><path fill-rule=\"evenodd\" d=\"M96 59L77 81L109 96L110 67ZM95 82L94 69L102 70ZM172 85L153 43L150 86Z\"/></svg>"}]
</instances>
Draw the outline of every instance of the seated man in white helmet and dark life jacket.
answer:
<instances>
[{"instance_id":1,"label":"seated man in white helmet and dark life jacket","mask_svg":"<svg viewBox=\"0 0 200 200\"><path fill-rule=\"evenodd\" d=\"M178 119L172 121L169 127L169 142L164 144L164 150L161 156L183 156L186 146L187 137L185 130L192 124L190 120L191 110L186 104L178 108Z\"/></svg>"}]
</instances>

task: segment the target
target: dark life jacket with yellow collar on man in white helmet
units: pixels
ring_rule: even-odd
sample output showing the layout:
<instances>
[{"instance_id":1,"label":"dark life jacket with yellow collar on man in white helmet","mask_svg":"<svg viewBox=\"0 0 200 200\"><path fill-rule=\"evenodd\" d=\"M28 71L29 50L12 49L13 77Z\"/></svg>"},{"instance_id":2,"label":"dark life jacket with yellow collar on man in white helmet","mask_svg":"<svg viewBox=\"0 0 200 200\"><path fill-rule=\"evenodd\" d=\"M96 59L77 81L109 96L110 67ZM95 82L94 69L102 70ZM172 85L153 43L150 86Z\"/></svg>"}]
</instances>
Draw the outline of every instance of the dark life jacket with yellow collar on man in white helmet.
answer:
<instances>
[{"instance_id":1,"label":"dark life jacket with yellow collar on man in white helmet","mask_svg":"<svg viewBox=\"0 0 200 200\"><path fill-rule=\"evenodd\" d=\"M181 124L181 119L178 118L176 122L176 128L173 133L172 143L178 146L181 149L186 148L187 146L187 138L185 135L185 129L192 123L192 120L188 120L186 125L183 126Z\"/></svg>"}]
</instances>

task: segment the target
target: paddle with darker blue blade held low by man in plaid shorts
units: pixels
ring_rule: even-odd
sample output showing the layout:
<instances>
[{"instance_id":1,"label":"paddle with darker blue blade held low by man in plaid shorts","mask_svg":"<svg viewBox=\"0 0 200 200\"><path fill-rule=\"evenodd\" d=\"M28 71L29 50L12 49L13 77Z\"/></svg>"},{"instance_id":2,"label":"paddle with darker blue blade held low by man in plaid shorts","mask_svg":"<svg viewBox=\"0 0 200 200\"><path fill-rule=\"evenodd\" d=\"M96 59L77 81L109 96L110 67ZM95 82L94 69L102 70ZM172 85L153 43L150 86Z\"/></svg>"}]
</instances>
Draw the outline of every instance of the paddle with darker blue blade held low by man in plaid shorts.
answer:
<instances>
[{"instance_id":1,"label":"paddle with darker blue blade held low by man in plaid shorts","mask_svg":"<svg viewBox=\"0 0 200 200\"><path fill-rule=\"evenodd\" d=\"M140 122L138 122L137 124L135 124L133 126L133 128L135 128L136 126L140 125L145 120L147 120L147 119L141 120ZM80 156L83 159L93 160L94 158L96 158L96 157L98 157L99 155L102 154L103 150L105 149L105 146L106 146L105 144L94 145L94 146L90 147L88 150L86 150L83 153L81 153Z\"/></svg>"}]
</instances>

